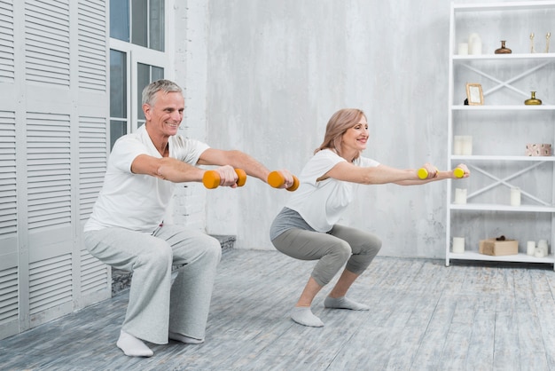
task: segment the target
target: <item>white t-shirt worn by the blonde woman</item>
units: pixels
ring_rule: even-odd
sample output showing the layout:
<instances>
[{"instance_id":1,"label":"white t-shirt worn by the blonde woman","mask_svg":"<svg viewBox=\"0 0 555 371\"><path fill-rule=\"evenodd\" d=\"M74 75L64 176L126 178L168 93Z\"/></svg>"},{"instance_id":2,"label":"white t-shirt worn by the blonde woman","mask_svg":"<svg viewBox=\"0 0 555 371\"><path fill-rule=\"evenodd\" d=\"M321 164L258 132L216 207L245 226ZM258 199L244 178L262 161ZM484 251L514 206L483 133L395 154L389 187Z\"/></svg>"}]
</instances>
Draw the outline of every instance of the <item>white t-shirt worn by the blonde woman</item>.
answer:
<instances>
[{"instance_id":1,"label":"white t-shirt worn by the blonde woman","mask_svg":"<svg viewBox=\"0 0 555 371\"><path fill-rule=\"evenodd\" d=\"M299 188L293 193L286 208L297 211L316 231L328 232L340 220L342 212L353 201L356 183L327 178L317 182L333 166L347 162L330 149L318 151L307 162L299 176ZM356 166L376 167L379 162L366 157L358 157Z\"/></svg>"}]
</instances>

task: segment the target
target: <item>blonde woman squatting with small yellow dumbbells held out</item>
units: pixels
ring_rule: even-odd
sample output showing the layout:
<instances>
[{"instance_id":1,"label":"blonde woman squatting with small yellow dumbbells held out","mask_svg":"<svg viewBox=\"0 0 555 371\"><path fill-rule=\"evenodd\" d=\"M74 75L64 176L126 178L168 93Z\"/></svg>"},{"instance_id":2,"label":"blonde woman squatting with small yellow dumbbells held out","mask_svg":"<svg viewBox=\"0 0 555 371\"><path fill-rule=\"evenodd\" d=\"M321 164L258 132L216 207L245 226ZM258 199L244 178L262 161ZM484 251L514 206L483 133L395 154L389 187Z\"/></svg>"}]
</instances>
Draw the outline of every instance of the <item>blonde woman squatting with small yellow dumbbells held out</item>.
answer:
<instances>
[{"instance_id":1,"label":"blonde woman squatting with small yellow dumbbells held out","mask_svg":"<svg viewBox=\"0 0 555 371\"><path fill-rule=\"evenodd\" d=\"M464 164L454 171L438 171L426 163L421 171L400 170L380 164L361 153L369 138L366 116L360 109L341 109L327 123L324 142L301 171L300 186L270 228L277 250L301 260L317 260L309 281L293 308L292 319L304 326L324 323L310 310L317 293L345 265L324 306L367 311L365 304L346 297L356 278L371 264L381 248L379 238L346 225L338 225L342 212L353 201L355 184L423 185L447 178L467 178ZM464 171L464 173L463 173ZM424 173L421 178L418 173Z\"/></svg>"}]
</instances>

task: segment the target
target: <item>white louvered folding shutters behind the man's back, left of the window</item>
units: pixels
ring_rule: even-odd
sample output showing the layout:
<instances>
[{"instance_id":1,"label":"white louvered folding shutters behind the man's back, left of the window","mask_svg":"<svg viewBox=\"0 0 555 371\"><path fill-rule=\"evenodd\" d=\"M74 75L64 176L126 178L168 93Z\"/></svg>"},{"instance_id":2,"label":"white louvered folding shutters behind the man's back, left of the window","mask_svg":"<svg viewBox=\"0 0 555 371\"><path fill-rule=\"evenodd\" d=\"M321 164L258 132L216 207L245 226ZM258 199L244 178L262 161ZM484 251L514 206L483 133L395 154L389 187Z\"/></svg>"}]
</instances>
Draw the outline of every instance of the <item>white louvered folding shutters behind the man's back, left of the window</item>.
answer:
<instances>
[{"instance_id":1,"label":"white louvered folding shutters behind the man's back, left of the window","mask_svg":"<svg viewBox=\"0 0 555 371\"><path fill-rule=\"evenodd\" d=\"M107 0L0 11L3 338L109 297L111 277L82 243L106 170Z\"/></svg>"}]
</instances>

